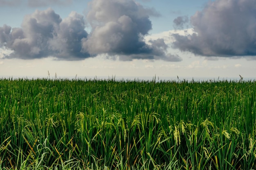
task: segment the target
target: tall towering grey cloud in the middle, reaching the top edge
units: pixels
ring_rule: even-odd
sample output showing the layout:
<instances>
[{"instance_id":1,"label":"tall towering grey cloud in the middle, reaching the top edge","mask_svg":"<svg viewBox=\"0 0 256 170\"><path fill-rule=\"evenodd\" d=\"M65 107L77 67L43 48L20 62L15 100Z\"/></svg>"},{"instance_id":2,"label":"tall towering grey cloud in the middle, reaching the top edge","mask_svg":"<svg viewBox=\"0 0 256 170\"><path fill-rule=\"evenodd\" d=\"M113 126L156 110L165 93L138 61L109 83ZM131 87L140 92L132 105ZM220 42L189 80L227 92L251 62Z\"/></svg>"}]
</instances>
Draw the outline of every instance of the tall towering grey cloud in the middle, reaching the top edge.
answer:
<instances>
[{"instance_id":1,"label":"tall towering grey cloud in the middle, reaching the top edge","mask_svg":"<svg viewBox=\"0 0 256 170\"><path fill-rule=\"evenodd\" d=\"M159 15L154 10L133 0L93 0L90 8L87 19L92 33L82 40L84 52L119 54L124 60L166 57L164 41L152 45L144 41L152 29L149 16Z\"/></svg>"}]
</instances>

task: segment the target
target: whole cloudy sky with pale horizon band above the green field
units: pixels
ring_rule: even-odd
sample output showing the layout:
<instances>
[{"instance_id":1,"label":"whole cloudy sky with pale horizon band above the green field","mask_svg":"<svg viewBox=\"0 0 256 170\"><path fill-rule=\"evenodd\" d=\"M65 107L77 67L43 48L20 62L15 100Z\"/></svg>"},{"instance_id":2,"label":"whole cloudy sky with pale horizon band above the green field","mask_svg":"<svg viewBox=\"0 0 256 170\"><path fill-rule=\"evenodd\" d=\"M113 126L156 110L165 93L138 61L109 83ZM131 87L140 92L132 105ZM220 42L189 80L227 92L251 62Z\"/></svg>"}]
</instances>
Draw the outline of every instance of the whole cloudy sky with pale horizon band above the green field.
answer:
<instances>
[{"instance_id":1,"label":"whole cloudy sky with pale horizon band above the green field","mask_svg":"<svg viewBox=\"0 0 256 170\"><path fill-rule=\"evenodd\" d=\"M255 0L0 0L0 77L256 79Z\"/></svg>"}]
</instances>

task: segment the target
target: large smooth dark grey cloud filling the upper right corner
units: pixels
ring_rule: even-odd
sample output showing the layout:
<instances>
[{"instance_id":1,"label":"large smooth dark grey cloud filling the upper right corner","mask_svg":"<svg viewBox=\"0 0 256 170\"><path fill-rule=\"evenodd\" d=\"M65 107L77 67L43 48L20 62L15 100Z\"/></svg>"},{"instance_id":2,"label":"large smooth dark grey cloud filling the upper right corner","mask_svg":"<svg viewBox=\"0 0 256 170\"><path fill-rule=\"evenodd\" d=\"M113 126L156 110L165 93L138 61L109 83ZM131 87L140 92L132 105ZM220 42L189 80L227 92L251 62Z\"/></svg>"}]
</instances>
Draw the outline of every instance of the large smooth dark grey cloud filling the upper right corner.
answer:
<instances>
[{"instance_id":1,"label":"large smooth dark grey cloud filling the upper right corner","mask_svg":"<svg viewBox=\"0 0 256 170\"><path fill-rule=\"evenodd\" d=\"M202 56L256 55L255 0L209 2L190 20L195 33L174 34L174 48Z\"/></svg>"}]
</instances>

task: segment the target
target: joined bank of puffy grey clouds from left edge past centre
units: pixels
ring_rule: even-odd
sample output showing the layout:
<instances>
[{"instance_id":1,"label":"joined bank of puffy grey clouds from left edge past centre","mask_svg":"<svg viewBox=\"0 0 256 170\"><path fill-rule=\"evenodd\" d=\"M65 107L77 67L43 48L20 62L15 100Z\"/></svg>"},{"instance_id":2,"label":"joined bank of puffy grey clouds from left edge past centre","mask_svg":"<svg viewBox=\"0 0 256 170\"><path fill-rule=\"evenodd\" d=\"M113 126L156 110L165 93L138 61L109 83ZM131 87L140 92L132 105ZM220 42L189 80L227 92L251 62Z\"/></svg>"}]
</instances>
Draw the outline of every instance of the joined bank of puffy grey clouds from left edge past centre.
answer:
<instances>
[{"instance_id":1,"label":"joined bank of puffy grey clouds from left edge past centre","mask_svg":"<svg viewBox=\"0 0 256 170\"><path fill-rule=\"evenodd\" d=\"M167 54L163 39L145 43L144 36L152 29L151 15L159 14L133 0L92 0L88 23L76 12L61 19L53 9L37 10L25 16L22 28L0 27L0 47L14 51L6 58L77 60L106 54L121 60L181 61L179 56ZM92 28L89 34L86 24Z\"/></svg>"}]
</instances>

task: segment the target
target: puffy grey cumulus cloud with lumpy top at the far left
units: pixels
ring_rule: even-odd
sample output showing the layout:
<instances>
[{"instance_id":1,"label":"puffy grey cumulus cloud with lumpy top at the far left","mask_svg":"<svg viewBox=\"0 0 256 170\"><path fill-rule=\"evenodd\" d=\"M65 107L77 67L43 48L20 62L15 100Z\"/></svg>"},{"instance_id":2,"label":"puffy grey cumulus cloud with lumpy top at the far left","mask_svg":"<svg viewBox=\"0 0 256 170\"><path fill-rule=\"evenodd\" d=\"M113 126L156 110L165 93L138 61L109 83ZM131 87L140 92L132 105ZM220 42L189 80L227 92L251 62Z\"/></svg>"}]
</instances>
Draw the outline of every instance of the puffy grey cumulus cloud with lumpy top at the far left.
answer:
<instances>
[{"instance_id":1,"label":"puffy grey cumulus cloud with lumpy top at the far left","mask_svg":"<svg viewBox=\"0 0 256 170\"><path fill-rule=\"evenodd\" d=\"M25 16L22 28L0 27L0 46L14 52L6 58L34 59L53 56L81 59L81 39L87 37L83 16L72 12L64 20L52 9Z\"/></svg>"}]
</instances>

